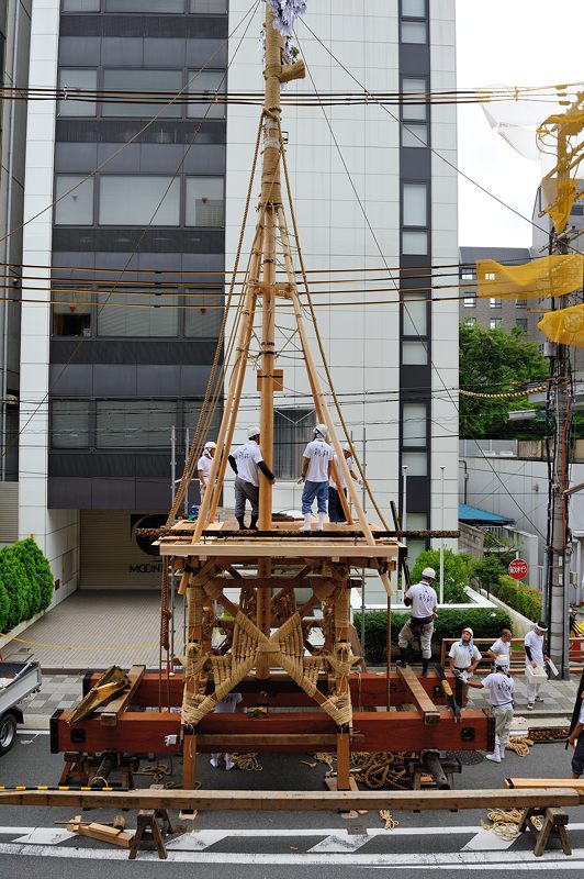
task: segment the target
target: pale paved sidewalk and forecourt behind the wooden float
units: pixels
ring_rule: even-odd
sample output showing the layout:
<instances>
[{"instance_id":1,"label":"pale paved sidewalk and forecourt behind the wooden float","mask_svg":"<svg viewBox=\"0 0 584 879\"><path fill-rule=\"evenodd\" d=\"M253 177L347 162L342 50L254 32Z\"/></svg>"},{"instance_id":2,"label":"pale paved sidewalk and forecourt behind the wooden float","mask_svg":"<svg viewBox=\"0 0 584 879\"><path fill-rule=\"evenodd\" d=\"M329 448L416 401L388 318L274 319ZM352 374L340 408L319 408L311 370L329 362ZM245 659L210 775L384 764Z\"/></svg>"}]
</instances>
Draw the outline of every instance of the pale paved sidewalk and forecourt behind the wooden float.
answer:
<instances>
[{"instance_id":1,"label":"pale paved sidewalk and forecourt behind the wooden float","mask_svg":"<svg viewBox=\"0 0 584 879\"><path fill-rule=\"evenodd\" d=\"M22 702L30 728L46 726L56 709L70 709L81 699L86 670L120 665L158 668L160 596L157 590L79 591L30 626L2 650L4 660L36 659L43 669L41 692ZM177 649L182 644L182 598L177 600ZM414 666L414 668L417 667ZM379 669L383 670L383 669ZM568 724L576 699L580 675L548 681L543 702L527 711L523 675L515 676L515 713L531 724L546 720ZM469 708L488 708L481 690L470 690ZM534 723L534 725L538 725ZM562 724L563 725L563 724Z\"/></svg>"}]
</instances>

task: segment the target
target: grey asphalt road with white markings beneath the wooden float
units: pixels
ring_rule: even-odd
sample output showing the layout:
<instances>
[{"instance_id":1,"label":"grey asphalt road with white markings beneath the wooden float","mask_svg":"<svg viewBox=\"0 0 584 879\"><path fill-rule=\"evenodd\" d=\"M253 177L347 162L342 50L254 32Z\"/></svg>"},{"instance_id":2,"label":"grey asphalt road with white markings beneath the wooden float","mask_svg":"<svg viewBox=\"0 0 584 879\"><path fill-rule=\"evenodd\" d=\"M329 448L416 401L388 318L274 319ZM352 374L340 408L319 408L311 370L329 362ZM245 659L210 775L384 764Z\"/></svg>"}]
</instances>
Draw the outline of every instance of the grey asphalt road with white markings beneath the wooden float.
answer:
<instances>
[{"instance_id":1,"label":"grey asphalt road with white markings beneath the wooden float","mask_svg":"<svg viewBox=\"0 0 584 879\"><path fill-rule=\"evenodd\" d=\"M164 758L168 763L168 757ZM323 788L326 770L311 768L302 760L310 755L260 755L261 771L213 769L205 755L200 758L200 778L205 789L305 789ZM48 754L48 736L25 732L8 755L0 758L3 785L54 785L63 757ZM177 768L177 767L175 767ZM180 766L178 766L180 770ZM529 757L508 753L501 766L485 760L464 766L457 777L460 789L498 787L506 776L568 777L569 754L563 745L538 745ZM178 779L178 776L176 777ZM141 786L150 778L139 776ZM446 876L461 871L480 872L484 879L505 875L537 874L541 877L584 875L584 813L572 810L571 858L558 843L542 858L532 855L532 838L524 834L514 842L502 841L481 827L483 810L450 812L396 812L400 822L384 831L377 812L344 819L337 813L214 812L201 813L195 822L173 815L178 833L169 841L169 858L160 861L156 852L141 850L136 864L127 852L66 833L63 825L71 809L14 808L0 810L0 877L30 879L122 879L128 870L141 877L181 879L196 865L201 879L339 879L378 877L380 870L427 879L441 870ZM106 821L112 812L83 813L86 820ZM135 813L126 813L128 827ZM105 861L105 863L104 863ZM139 867L137 863L139 861Z\"/></svg>"}]
</instances>

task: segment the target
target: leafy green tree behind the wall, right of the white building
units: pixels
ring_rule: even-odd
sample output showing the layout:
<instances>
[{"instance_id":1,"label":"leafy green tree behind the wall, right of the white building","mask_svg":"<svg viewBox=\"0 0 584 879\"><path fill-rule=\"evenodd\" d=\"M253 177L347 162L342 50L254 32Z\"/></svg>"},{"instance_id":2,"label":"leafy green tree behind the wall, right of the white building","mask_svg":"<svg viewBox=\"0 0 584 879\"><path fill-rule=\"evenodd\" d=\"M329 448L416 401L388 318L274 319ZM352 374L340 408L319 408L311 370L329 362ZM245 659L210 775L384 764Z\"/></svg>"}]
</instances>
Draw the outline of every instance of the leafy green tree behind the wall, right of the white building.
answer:
<instances>
[{"instance_id":1,"label":"leafy green tree behind the wall, right of the white building","mask_svg":"<svg viewBox=\"0 0 584 879\"><path fill-rule=\"evenodd\" d=\"M521 390L525 382L548 377L548 361L519 327L484 330L460 324L460 388L481 393ZM460 397L460 436L501 439L541 438L543 420L509 422L508 413L531 409L527 398Z\"/></svg>"}]
</instances>

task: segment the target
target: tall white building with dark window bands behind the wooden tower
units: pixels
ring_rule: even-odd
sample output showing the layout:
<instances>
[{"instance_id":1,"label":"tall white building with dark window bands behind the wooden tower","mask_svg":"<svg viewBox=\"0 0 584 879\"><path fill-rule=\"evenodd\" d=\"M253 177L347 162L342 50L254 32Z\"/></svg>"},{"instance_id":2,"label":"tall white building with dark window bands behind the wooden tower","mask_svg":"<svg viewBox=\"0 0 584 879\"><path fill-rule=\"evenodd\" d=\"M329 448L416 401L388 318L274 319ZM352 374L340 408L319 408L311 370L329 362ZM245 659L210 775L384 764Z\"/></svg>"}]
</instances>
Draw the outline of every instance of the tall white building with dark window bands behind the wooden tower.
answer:
<instances>
[{"instance_id":1,"label":"tall white building with dark window bands behind the wooden tower","mask_svg":"<svg viewBox=\"0 0 584 879\"><path fill-rule=\"evenodd\" d=\"M171 430L182 449L206 388L259 112L170 101L181 90L262 88L254 5L44 0L33 9L30 82L60 92L29 108L23 263L42 268L22 311L19 525L44 546L60 596L77 585L158 582L135 530L168 509ZM401 107L295 105L284 115L310 270L330 281L339 269L378 270L375 283L350 285L350 305L332 283L317 313L386 514L407 475L408 527L457 522L457 188L443 162L456 162L456 110L425 97L454 88L454 3L439 5L368 0L356 14L347 2L308 3L299 91L405 97ZM452 272L451 301L433 304L433 267ZM314 424L293 345L290 354L274 509L297 507L295 461ZM237 439L257 416L255 394L250 379Z\"/></svg>"}]
</instances>

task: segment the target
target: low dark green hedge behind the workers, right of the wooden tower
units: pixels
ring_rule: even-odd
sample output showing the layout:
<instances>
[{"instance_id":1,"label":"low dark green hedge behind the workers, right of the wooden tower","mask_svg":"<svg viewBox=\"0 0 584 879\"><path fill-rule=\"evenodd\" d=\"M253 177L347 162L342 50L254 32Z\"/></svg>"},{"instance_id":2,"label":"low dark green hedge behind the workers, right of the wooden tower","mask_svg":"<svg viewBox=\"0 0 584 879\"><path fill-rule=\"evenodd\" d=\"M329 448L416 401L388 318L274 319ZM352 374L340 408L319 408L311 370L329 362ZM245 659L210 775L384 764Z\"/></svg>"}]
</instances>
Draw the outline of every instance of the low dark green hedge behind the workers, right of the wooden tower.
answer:
<instances>
[{"instance_id":1,"label":"low dark green hedge behind the workers, right of the wooden tower","mask_svg":"<svg viewBox=\"0 0 584 879\"><path fill-rule=\"evenodd\" d=\"M397 644L397 635L407 613L392 613L392 645ZM355 614L355 626L361 631L361 614ZM512 621L508 613L491 608L469 608L468 610L440 610L434 622L433 645L435 653L439 653L442 638L458 638L462 626L470 625L478 638L498 637L502 628L510 628ZM371 665L385 663L385 645L388 632L386 611L366 611L366 659Z\"/></svg>"}]
</instances>

